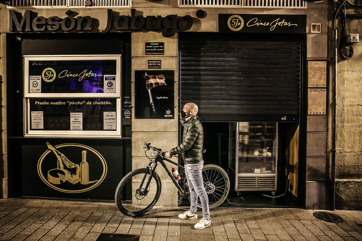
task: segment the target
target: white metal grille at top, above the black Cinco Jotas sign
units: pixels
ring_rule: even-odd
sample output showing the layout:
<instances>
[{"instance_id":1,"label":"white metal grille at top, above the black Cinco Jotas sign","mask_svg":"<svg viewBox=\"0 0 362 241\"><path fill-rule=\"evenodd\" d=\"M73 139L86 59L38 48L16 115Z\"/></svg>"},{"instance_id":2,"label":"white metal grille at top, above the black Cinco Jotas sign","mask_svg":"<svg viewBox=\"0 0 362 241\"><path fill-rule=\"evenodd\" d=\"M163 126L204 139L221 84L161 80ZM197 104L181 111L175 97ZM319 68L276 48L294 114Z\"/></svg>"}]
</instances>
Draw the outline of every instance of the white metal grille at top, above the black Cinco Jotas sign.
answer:
<instances>
[{"instance_id":1,"label":"white metal grille at top, above the black Cinco Jotas sign","mask_svg":"<svg viewBox=\"0 0 362 241\"><path fill-rule=\"evenodd\" d=\"M305 8L303 0L180 0L180 6Z\"/></svg>"}]
</instances>

